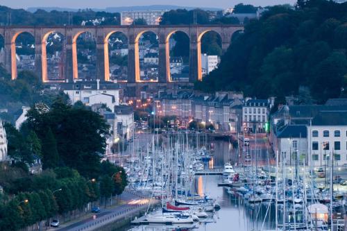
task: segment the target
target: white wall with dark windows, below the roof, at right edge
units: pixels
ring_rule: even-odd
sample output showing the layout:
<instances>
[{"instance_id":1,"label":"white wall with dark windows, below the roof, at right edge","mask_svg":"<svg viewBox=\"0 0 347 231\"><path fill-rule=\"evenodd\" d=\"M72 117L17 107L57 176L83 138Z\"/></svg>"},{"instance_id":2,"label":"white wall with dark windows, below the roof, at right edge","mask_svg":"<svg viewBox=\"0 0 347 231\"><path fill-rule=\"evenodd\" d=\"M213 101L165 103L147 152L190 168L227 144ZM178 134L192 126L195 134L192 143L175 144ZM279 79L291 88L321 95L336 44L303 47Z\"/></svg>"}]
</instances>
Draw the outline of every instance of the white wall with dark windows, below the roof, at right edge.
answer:
<instances>
[{"instance_id":1,"label":"white wall with dark windows, below the roof, at right edge","mask_svg":"<svg viewBox=\"0 0 347 231\"><path fill-rule=\"evenodd\" d=\"M347 126L307 126L308 150L313 166L347 164ZM326 158L325 158L326 157Z\"/></svg>"}]
</instances>

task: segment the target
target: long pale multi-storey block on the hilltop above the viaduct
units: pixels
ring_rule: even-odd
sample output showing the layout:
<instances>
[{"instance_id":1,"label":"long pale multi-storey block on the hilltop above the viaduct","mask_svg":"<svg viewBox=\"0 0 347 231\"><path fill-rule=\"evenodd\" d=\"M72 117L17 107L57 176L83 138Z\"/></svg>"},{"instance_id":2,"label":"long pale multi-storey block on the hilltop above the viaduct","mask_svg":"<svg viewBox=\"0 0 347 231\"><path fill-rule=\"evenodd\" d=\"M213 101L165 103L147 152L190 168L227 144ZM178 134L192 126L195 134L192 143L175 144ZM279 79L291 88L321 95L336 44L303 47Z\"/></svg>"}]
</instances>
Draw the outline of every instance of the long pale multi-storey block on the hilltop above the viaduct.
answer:
<instances>
[{"instance_id":1,"label":"long pale multi-storey block on the hilltop above the viaduct","mask_svg":"<svg viewBox=\"0 0 347 231\"><path fill-rule=\"evenodd\" d=\"M159 25L166 10L138 10L121 12L121 25L131 25L136 19L144 19L147 25Z\"/></svg>"}]
</instances>

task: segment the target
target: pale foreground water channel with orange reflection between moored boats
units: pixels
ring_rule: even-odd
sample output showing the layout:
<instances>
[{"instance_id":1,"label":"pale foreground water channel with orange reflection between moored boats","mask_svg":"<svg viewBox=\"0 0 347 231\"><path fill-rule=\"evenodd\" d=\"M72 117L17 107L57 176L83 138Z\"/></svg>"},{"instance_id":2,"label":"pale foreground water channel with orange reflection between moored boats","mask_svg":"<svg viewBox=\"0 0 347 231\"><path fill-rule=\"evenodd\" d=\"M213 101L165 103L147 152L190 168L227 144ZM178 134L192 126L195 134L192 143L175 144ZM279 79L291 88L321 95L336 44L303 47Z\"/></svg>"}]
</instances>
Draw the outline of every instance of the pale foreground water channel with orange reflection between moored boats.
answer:
<instances>
[{"instance_id":1,"label":"pale foreground water channel with orange reflection between moored boats","mask_svg":"<svg viewBox=\"0 0 347 231\"><path fill-rule=\"evenodd\" d=\"M140 225L126 230L251 231L273 229L275 224L275 207L273 205L244 203L237 193L229 194L227 189L217 187L217 182L221 182L221 176L198 176L196 182L198 194L201 192L208 194L221 205L221 210L215 212L212 217L194 225ZM266 213L267 216L265 216Z\"/></svg>"}]
</instances>

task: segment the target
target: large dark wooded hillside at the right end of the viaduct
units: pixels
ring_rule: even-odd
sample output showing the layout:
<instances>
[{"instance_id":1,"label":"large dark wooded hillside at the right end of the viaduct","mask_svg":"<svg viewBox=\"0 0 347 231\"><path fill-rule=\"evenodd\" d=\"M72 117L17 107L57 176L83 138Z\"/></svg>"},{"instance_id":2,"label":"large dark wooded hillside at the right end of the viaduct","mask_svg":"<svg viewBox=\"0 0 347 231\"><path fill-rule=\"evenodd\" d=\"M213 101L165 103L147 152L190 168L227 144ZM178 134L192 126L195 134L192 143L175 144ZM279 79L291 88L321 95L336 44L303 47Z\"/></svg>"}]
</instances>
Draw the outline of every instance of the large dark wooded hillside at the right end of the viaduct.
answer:
<instances>
[{"instance_id":1,"label":"large dark wooded hillside at the right end of the viaduct","mask_svg":"<svg viewBox=\"0 0 347 231\"><path fill-rule=\"evenodd\" d=\"M307 87L319 103L343 96L346 28L347 3L310 0L297 8L269 7L233 38L219 68L196 89L268 97L298 94Z\"/></svg>"}]
</instances>

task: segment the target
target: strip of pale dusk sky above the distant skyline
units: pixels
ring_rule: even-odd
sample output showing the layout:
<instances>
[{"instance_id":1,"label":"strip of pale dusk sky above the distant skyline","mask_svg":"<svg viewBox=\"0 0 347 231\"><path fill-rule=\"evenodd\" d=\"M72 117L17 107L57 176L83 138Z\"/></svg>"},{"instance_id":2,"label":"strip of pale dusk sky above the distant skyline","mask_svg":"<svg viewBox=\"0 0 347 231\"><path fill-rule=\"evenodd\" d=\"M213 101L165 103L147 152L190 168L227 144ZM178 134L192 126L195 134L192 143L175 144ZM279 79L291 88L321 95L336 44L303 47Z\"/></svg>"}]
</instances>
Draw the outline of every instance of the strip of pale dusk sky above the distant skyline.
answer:
<instances>
[{"instance_id":1,"label":"strip of pale dusk sky above the distant skyline","mask_svg":"<svg viewBox=\"0 0 347 231\"><path fill-rule=\"evenodd\" d=\"M175 5L213 8L229 8L237 3L254 6L270 6L283 3L294 4L296 0L0 0L0 5L11 8L61 7L106 8L119 6Z\"/></svg>"}]
</instances>

